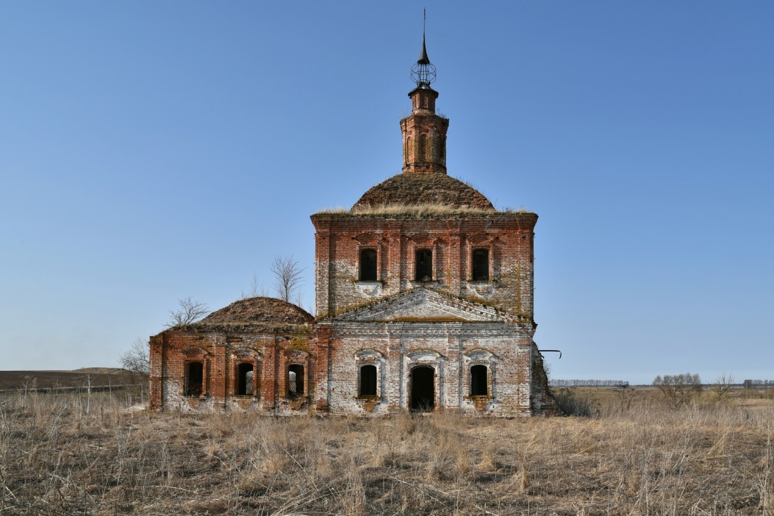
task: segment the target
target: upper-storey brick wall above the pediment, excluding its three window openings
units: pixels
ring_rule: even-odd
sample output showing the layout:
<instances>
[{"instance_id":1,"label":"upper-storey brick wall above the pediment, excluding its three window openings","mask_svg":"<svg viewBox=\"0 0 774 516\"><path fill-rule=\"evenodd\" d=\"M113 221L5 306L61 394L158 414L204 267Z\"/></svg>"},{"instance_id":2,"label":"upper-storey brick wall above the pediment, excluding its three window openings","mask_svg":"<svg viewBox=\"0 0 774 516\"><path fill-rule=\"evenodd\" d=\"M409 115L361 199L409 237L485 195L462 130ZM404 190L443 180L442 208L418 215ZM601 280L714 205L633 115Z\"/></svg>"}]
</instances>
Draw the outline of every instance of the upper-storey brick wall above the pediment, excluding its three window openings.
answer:
<instances>
[{"instance_id":1,"label":"upper-storey brick wall above the pediment, excluding its three window openings","mask_svg":"<svg viewBox=\"0 0 774 516\"><path fill-rule=\"evenodd\" d=\"M533 317L535 214L399 218L317 214L316 309L325 318L421 286L417 249L433 252L433 289ZM378 282L358 282L362 248L378 255ZM471 281L471 253L490 253L490 281Z\"/></svg>"}]
</instances>

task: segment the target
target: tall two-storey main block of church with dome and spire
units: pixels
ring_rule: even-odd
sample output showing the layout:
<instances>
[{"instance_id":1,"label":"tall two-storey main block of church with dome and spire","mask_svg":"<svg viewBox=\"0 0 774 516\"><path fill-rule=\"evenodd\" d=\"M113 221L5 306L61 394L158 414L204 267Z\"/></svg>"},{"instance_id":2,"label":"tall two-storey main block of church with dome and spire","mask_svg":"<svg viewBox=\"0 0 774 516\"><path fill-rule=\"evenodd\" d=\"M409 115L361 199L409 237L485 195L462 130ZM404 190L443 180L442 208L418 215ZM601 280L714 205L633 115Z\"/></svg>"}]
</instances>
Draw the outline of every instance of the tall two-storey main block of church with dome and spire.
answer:
<instances>
[{"instance_id":1,"label":"tall two-storey main block of church with dome and spire","mask_svg":"<svg viewBox=\"0 0 774 516\"><path fill-rule=\"evenodd\" d=\"M533 342L537 215L498 211L447 175L423 37L402 173L348 212L313 215L313 403L333 413L556 414Z\"/></svg>"}]
</instances>

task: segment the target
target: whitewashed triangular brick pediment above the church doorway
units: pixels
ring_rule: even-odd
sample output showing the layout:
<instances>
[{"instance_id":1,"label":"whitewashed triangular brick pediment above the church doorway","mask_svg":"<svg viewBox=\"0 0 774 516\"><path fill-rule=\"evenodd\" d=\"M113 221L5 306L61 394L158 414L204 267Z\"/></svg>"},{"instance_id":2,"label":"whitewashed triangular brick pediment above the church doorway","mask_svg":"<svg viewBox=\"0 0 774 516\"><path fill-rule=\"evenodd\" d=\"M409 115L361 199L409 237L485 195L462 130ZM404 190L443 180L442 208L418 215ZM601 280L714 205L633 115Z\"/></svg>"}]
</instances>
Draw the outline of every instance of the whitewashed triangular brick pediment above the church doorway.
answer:
<instances>
[{"instance_id":1,"label":"whitewashed triangular brick pediment above the church doorway","mask_svg":"<svg viewBox=\"0 0 774 516\"><path fill-rule=\"evenodd\" d=\"M335 317L335 320L361 323L510 322L509 318L504 317L491 306L466 301L423 287L342 313Z\"/></svg>"}]
</instances>

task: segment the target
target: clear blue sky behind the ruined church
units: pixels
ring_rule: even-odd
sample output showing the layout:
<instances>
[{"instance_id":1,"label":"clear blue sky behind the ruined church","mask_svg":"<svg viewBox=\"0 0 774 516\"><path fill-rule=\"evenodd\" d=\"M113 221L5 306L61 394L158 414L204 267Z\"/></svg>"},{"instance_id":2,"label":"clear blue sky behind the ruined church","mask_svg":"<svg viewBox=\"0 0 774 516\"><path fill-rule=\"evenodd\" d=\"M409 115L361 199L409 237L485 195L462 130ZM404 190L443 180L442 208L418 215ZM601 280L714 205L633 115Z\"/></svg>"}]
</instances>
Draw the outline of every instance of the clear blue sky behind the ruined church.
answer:
<instances>
[{"instance_id":1,"label":"clear blue sky behind the ruined church","mask_svg":"<svg viewBox=\"0 0 774 516\"><path fill-rule=\"evenodd\" d=\"M536 227L555 378L774 378L772 2L2 2L0 369L115 366L271 291L401 166L422 9L448 170Z\"/></svg>"}]
</instances>

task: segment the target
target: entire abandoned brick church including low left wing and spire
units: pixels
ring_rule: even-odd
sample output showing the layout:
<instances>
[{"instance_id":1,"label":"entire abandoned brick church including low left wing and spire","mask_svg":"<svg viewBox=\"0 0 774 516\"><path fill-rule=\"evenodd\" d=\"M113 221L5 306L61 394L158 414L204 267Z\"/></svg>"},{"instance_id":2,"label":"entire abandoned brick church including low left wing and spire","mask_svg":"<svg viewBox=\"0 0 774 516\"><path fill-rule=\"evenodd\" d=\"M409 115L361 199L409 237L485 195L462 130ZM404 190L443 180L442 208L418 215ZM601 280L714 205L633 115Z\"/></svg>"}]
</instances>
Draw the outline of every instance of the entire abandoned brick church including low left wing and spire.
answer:
<instances>
[{"instance_id":1,"label":"entire abandoned brick church including low left wing and spire","mask_svg":"<svg viewBox=\"0 0 774 516\"><path fill-rule=\"evenodd\" d=\"M150 406L276 415L555 415L533 335L537 215L447 176L423 40L402 173L312 215L316 317L241 299L150 339Z\"/></svg>"}]
</instances>

